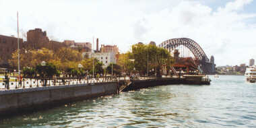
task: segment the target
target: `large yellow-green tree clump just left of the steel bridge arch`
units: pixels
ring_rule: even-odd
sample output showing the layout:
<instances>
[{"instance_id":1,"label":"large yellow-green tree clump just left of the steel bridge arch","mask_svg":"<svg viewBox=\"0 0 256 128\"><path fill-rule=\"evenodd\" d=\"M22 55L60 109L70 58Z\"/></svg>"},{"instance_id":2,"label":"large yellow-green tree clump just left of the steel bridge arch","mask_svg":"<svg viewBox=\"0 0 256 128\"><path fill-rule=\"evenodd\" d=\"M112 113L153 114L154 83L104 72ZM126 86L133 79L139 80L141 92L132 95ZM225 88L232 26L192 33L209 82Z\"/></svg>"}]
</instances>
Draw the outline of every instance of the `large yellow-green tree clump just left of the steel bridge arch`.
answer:
<instances>
[{"instance_id":1,"label":"large yellow-green tree clump just left of the steel bridge arch","mask_svg":"<svg viewBox=\"0 0 256 128\"><path fill-rule=\"evenodd\" d=\"M154 71L160 75L164 66L174 63L173 58L166 49L162 49L152 44L134 44L131 52L127 52L119 57L118 64L126 73L139 72L146 75L149 71ZM169 71L170 67L166 67Z\"/></svg>"}]
</instances>

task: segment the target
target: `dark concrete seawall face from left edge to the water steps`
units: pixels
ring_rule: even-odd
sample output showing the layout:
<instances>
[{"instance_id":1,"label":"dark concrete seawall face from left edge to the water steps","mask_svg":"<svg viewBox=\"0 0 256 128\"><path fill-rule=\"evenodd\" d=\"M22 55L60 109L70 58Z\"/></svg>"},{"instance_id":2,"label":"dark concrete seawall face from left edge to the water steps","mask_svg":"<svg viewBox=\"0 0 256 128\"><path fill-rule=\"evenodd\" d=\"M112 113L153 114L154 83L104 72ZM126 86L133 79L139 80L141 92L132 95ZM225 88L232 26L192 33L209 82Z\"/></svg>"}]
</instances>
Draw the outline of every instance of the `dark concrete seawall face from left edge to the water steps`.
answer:
<instances>
[{"instance_id":1,"label":"dark concrete seawall face from left edge to the water steps","mask_svg":"<svg viewBox=\"0 0 256 128\"><path fill-rule=\"evenodd\" d=\"M78 84L0 91L0 115L74 100L117 94L117 82Z\"/></svg>"}]
</instances>

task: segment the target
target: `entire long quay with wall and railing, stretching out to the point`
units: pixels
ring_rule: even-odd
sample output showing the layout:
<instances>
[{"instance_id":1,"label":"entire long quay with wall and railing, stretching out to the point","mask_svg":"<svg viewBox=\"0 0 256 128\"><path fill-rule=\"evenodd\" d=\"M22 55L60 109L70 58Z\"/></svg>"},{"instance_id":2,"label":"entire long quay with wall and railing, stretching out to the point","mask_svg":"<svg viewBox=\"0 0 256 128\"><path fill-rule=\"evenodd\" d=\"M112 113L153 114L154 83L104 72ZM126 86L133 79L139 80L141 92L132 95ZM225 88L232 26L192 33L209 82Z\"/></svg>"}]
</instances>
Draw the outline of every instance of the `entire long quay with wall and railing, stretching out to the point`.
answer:
<instances>
[{"instance_id":1,"label":"entire long quay with wall and railing, stretching out to the point","mask_svg":"<svg viewBox=\"0 0 256 128\"><path fill-rule=\"evenodd\" d=\"M49 82L51 83L51 82ZM0 117L3 115L17 115L31 110L45 109L59 104L70 103L77 100L96 98L100 96L119 94L129 90L149 88L172 84L210 85L210 79L203 76L183 77L119 77L104 81L97 79L96 83L87 79L77 79L73 84L59 86L26 86L26 88L13 90L0 90Z\"/></svg>"}]
</instances>

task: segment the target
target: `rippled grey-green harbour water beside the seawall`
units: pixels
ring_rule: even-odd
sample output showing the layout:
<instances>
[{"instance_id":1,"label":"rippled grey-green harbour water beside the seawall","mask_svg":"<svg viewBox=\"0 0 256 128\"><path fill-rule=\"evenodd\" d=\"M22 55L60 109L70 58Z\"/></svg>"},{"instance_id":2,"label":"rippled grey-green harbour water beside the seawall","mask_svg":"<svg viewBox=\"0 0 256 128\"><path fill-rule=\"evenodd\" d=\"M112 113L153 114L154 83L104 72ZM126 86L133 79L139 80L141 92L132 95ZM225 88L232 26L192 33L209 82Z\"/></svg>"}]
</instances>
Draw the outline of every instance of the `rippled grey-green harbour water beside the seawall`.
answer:
<instances>
[{"instance_id":1,"label":"rippled grey-green harbour water beside the seawall","mask_svg":"<svg viewBox=\"0 0 256 128\"><path fill-rule=\"evenodd\" d=\"M158 86L3 119L0 127L256 127L256 84L245 76L211 86Z\"/></svg>"}]
</instances>

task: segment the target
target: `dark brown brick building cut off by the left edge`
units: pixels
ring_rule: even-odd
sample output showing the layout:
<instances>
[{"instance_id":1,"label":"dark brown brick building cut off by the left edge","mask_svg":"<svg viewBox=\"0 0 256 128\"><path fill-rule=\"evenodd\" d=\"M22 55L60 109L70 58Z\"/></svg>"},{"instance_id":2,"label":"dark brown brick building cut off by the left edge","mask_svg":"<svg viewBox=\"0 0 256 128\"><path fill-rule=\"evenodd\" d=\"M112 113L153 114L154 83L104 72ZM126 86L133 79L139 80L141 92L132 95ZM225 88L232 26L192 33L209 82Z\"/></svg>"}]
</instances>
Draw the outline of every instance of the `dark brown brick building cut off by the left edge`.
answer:
<instances>
[{"instance_id":1,"label":"dark brown brick building cut off by the left edge","mask_svg":"<svg viewBox=\"0 0 256 128\"><path fill-rule=\"evenodd\" d=\"M24 46L23 39L20 38L20 48ZM11 54L18 49L18 38L14 36L0 35L0 66L7 67L8 59L11 59Z\"/></svg>"}]
</instances>

